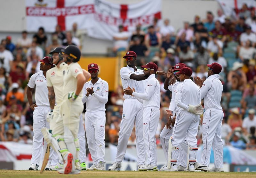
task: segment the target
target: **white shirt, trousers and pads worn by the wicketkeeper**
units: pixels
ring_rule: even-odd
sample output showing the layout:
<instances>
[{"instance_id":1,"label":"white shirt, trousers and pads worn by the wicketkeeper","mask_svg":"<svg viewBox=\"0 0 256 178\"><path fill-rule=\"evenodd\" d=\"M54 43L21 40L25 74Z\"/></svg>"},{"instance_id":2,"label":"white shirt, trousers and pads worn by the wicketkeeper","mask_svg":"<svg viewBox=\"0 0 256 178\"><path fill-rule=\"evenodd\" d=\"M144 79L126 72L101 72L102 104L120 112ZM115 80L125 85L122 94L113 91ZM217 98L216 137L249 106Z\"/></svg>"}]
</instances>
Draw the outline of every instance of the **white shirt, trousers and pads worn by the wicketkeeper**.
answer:
<instances>
[{"instance_id":1,"label":"white shirt, trousers and pads worn by the wicketkeeper","mask_svg":"<svg viewBox=\"0 0 256 178\"><path fill-rule=\"evenodd\" d=\"M197 148L196 135L200 116L188 112L188 104L200 104L199 87L192 80L185 79L184 82L180 83L180 85L177 87L175 103L177 104L178 108L176 112L176 122L173 126L172 132L172 146L179 147L182 141L185 139L185 142L188 145L193 148ZM172 151L172 159L177 160L179 151L180 150ZM189 155L190 160L196 160L195 150L190 150Z\"/></svg>"}]
</instances>

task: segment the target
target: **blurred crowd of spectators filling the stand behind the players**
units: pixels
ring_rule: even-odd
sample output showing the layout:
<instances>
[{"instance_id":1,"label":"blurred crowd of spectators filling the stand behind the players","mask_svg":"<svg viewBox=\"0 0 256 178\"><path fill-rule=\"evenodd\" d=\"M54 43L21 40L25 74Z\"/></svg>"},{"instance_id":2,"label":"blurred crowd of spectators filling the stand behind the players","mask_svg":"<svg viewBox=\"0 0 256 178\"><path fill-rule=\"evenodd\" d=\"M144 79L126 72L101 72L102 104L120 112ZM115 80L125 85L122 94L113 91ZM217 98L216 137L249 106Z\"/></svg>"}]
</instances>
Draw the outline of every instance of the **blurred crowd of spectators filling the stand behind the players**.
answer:
<instances>
[{"instance_id":1,"label":"blurred crowd of spectators filling the stand behind the players","mask_svg":"<svg viewBox=\"0 0 256 178\"><path fill-rule=\"evenodd\" d=\"M155 19L146 29L137 25L132 34L119 26L119 32L113 36L113 52L135 51L137 66L153 61L158 65L158 70L168 71L176 63L183 62L193 70L193 76L204 80L208 70L206 64L220 63L223 143L239 149L256 149L255 11L244 4L237 19L225 16L221 10L217 14L214 17L208 11L205 19L196 15L192 24L184 22L179 30L173 28L169 19L164 19L162 25L162 21ZM83 33L77 29L76 23L68 32L62 32L57 25L51 41L42 27L32 39L27 34L26 31L22 32L17 44L12 43L11 36L1 40L0 141L32 143L33 111L25 94L29 77L39 71L40 63L37 60L57 46L73 44L82 48ZM157 79L161 84L161 115L156 133L160 147L159 135L168 119L165 110L169 108L172 94L163 87L164 76L157 76ZM123 101L121 86L110 92L106 106L106 142L117 143ZM198 145L202 144L201 137L199 130ZM133 131L129 146L135 145Z\"/></svg>"}]
</instances>

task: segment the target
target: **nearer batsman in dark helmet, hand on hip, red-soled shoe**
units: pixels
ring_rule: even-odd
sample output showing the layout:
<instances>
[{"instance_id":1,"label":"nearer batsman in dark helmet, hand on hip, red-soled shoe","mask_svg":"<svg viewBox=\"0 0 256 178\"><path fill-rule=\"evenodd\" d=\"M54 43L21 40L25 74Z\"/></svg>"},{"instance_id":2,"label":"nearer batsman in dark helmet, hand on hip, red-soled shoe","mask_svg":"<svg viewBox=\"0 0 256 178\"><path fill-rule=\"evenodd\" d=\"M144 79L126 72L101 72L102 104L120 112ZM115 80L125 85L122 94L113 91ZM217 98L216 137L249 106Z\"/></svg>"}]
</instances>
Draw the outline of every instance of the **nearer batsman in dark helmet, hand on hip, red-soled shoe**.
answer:
<instances>
[{"instance_id":1,"label":"nearer batsman in dark helmet, hand on hip, red-soled shoe","mask_svg":"<svg viewBox=\"0 0 256 178\"><path fill-rule=\"evenodd\" d=\"M63 71L63 98L60 105L60 116L52 128L52 134L46 129L42 130L45 141L51 143L52 148L59 152L64 160L60 174L80 174L79 141L77 133L80 115L84 109L82 102L82 89L86 81L83 70L77 63L81 52L69 45L62 50L63 61L68 67Z\"/></svg>"}]
</instances>

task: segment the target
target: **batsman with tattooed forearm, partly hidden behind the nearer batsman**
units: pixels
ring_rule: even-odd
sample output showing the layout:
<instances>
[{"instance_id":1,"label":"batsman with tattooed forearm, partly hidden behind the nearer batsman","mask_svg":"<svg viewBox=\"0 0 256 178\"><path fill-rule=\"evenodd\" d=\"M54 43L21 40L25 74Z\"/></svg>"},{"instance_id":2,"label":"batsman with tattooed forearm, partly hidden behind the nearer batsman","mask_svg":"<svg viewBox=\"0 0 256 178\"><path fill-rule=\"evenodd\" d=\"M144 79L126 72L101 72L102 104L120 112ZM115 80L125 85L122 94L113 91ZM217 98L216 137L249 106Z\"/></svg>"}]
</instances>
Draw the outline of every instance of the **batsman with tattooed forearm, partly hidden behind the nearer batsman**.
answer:
<instances>
[{"instance_id":1,"label":"batsman with tattooed forearm, partly hidden behind the nearer batsman","mask_svg":"<svg viewBox=\"0 0 256 178\"><path fill-rule=\"evenodd\" d=\"M55 124L57 118L60 115L60 104L62 102L62 88L63 88L63 71L67 68L68 64L63 62L63 56L61 50L64 50L64 47L56 47L53 51L50 52L53 58L53 64L55 68L51 68L46 72L47 87L48 87L48 96L51 111L48 113L48 119L50 122L50 130ZM90 78L90 74L83 70L86 78ZM55 101L57 105L55 105ZM80 117L79 130L77 138L79 140L80 150L79 150L79 160L80 160L80 170L86 170L85 164L85 131L83 126L82 115ZM62 158L60 158L62 160ZM56 164L52 164L52 170L60 170L63 168L63 165L59 163L59 158L55 161Z\"/></svg>"}]
</instances>

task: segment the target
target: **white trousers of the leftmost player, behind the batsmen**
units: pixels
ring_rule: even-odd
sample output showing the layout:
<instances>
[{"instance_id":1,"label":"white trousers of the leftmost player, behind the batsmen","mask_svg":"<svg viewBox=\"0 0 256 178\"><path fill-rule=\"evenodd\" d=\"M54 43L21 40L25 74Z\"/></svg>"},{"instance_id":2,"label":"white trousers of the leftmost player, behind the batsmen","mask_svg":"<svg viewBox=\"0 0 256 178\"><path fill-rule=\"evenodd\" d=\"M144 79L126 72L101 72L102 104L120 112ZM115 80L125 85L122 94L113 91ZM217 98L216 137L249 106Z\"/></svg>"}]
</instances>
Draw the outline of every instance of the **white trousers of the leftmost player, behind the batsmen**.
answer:
<instances>
[{"instance_id":1,"label":"white trousers of the leftmost player, behind the batsmen","mask_svg":"<svg viewBox=\"0 0 256 178\"><path fill-rule=\"evenodd\" d=\"M46 116L50 111L50 106L37 106L33 112L33 143L32 143L32 158L30 164L40 163L41 155L45 154L47 143L43 142L44 136L41 129L47 127L49 129L50 125L46 122ZM50 151L50 156L48 164L50 165L53 157L53 149ZM44 158L44 156L43 156Z\"/></svg>"}]
</instances>

